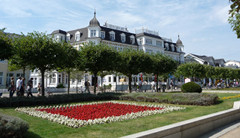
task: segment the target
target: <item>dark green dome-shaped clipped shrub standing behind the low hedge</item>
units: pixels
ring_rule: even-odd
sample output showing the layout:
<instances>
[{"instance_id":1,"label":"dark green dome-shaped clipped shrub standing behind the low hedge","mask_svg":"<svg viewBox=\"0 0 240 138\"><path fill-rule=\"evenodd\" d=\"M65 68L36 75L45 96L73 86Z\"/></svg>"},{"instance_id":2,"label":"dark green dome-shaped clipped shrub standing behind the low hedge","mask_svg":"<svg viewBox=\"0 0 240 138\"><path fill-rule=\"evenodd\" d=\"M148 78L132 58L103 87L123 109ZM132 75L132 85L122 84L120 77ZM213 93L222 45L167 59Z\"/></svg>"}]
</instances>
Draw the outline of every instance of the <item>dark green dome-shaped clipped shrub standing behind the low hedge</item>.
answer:
<instances>
[{"instance_id":1,"label":"dark green dome-shaped clipped shrub standing behind the low hedge","mask_svg":"<svg viewBox=\"0 0 240 138\"><path fill-rule=\"evenodd\" d=\"M183 84L181 90L182 92L202 92L201 86L196 84L195 82L188 82L186 84Z\"/></svg>"}]
</instances>

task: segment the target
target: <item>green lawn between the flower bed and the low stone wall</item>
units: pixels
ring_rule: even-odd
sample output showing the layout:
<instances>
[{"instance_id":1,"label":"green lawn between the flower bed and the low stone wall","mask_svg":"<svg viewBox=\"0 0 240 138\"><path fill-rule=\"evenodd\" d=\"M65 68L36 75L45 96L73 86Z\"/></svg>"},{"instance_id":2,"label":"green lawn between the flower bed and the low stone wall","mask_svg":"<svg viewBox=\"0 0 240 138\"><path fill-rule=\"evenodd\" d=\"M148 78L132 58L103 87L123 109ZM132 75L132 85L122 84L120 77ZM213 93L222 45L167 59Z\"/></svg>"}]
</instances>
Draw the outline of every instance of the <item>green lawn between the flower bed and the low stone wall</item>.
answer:
<instances>
[{"instance_id":1,"label":"green lawn between the flower bed and the low stone wall","mask_svg":"<svg viewBox=\"0 0 240 138\"><path fill-rule=\"evenodd\" d=\"M221 93L219 97L233 96L238 94ZM29 138L62 138L62 137L121 137L137 132L141 132L156 127L161 127L184 121L187 119L211 114L214 112L229 109L233 102L240 98L224 100L218 105L212 106L184 106L186 110L174 111L165 114L152 115L144 118L126 120L122 122L113 122L109 124L99 124L85 126L82 128L69 128L64 125L50 122L37 117L28 116L24 113L16 112L15 108L0 108L0 112L12 116L17 116L29 123L30 129L26 134ZM178 105L180 106L180 105Z\"/></svg>"}]
</instances>

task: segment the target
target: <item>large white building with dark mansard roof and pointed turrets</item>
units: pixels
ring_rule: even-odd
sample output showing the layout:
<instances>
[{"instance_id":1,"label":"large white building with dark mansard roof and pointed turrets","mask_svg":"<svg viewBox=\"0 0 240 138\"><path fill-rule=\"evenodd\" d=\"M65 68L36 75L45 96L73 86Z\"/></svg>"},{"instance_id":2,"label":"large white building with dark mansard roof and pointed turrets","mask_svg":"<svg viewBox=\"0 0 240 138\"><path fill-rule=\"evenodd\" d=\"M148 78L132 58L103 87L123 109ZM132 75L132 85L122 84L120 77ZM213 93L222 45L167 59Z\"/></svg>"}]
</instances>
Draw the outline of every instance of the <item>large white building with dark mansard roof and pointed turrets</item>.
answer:
<instances>
[{"instance_id":1,"label":"large white building with dark mansard roof and pointed turrets","mask_svg":"<svg viewBox=\"0 0 240 138\"><path fill-rule=\"evenodd\" d=\"M125 48L132 48L136 50L143 50L148 53L166 54L177 60L179 63L184 62L184 45L179 37L177 42L174 43L170 39L162 38L155 31L147 29L141 29L135 33L131 33L125 27L108 23L101 26L96 18L96 12L94 12L94 17L90 20L87 27L71 31L56 30L52 32L52 35L54 35L54 37L59 41L70 42L76 49L79 49L83 43L105 43L114 47L118 51L122 51ZM68 77L66 73L53 71L50 75L46 74L46 76L49 76L46 78L47 80L45 84L48 87L56 87L59 83L67 85ZM31 77L37 81L34 84L41 82L41 76L38 71L32 72ZM139 77L139 75L134 76L133 80L138 82ZM111 84L114 86L116 82L118 84L120 83L120 78L125 78L125 76L107 75L103 78L103 84ZM92 76L85 74L84 79L79 81L78 84L76 84L76 81L72 80L71 87L83 85L86 79L93 85ZM101 84L100 78L98 79L98 84ZM36 87L36 85L34 85L34 87Z\"/></svg>"}]
</instances>

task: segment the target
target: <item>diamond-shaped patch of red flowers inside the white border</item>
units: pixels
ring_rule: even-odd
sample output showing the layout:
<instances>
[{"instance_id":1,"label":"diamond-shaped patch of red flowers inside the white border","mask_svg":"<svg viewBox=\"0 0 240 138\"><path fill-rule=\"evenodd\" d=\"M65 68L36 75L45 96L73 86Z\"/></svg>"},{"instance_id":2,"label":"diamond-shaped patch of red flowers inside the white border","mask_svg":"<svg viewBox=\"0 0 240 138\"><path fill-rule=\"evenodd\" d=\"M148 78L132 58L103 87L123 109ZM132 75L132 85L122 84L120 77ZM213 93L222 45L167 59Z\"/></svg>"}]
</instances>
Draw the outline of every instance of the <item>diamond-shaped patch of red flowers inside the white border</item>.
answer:
<instances>
[{"instance_id":1,"label":"diamond-shaped patch of red flowers inside the white border","mask_svg":"<svg viewBox=\"0 0 240 138\"><path fill-rule=\"evenodd\" d=\"M140 105L127 105L120 103L99 103L92 105L77 105L61 108L43 108L38 111L45 111L51 114L60 114L69 118L89 120L111 116L121 116L149 110L161 110L159 107L148 107Z\"/></svg>"}]
</instances>

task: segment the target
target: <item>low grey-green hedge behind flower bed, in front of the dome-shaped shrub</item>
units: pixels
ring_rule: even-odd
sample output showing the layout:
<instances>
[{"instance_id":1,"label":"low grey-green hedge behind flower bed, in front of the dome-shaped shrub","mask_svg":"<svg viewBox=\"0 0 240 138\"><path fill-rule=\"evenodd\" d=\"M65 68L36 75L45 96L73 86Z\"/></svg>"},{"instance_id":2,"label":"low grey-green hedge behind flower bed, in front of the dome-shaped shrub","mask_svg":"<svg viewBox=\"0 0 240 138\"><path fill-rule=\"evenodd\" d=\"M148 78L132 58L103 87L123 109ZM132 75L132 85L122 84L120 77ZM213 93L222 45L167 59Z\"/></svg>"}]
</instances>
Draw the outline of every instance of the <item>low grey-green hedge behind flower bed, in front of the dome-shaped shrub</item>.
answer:
<instances>
[{"instance_id":1,"label":"low grey-green hedge behind flower bed, in front of the dome-shaped shrub","mask_svg":"<svg viewBox=\"0 0 240 138\"><path fill-rule=\"evenodd\" d=\"M206 106L217 104L218 96L205 93L132 93L120 96L120 100Z\"/></svg>"}]
</instances>

